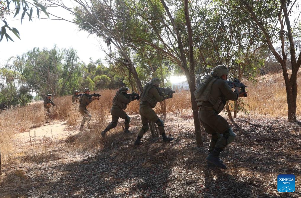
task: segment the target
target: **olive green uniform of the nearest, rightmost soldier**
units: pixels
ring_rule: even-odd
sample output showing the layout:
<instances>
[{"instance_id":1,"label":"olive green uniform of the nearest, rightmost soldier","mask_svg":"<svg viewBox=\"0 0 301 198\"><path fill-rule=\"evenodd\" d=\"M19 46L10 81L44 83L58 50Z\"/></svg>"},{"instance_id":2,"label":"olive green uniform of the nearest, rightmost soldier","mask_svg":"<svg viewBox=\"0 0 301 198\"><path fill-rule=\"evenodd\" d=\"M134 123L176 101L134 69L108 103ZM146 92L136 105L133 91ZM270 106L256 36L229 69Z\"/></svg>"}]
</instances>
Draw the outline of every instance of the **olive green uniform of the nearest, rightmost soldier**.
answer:
<instances>
[{"instance_id":1,"label":"olive green uniform of the nearest, rightmost soldier","mask_svg":"<svg viewBox=\"0 0 301 198\"><path fill-rule=\"evenodd\" d=\"M205 131L212 135L208 149L210 153L214 148L223 150L226 145L234 141L235 134L230 125L225 118L218 114L224 108L227 100L237 100L238 92L232 91L223 79L213 76L207 76L206 78L210 78L211 81L204 91L208 92L208 100L197 98L196 102L199 107L198 117L200 122Z\"/></svg>"}]
</instances>

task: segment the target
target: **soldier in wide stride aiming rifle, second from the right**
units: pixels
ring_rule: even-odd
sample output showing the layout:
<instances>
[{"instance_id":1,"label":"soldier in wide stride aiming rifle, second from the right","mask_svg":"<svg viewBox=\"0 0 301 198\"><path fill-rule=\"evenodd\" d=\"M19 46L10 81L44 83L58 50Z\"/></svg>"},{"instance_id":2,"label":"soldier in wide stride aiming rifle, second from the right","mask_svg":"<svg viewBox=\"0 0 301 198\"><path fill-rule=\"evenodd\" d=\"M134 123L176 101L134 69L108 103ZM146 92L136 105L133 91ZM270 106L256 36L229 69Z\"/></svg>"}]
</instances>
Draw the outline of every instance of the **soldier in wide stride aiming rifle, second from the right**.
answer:
<instances>
[{"instance_id":1,"label":"soldier in wide stride aiming rifle, second from the right","mask_svg":"<svg viewBox=\"0 0 301 198\"><path fill-rule=\"evenodd\" d=\"M168 94L167 96L161 95L157 89L159 85L160 79L153 78L151 79L150 84L147 83L147 85L145 85L141 93L139 113L141 115L143 126L138 133L138 137L134 143L134 146L138 146L140 144L142 136L149 129L148 120L151 120L158 125L158 129L160 131L160 134L162 135L164 142L170 142L174 139L166 137L163 120L159 119L155 111L152 109L156 106L157 102L161 102L165 99L172 98L172 94Z\"/></svg>"}]
</instances>

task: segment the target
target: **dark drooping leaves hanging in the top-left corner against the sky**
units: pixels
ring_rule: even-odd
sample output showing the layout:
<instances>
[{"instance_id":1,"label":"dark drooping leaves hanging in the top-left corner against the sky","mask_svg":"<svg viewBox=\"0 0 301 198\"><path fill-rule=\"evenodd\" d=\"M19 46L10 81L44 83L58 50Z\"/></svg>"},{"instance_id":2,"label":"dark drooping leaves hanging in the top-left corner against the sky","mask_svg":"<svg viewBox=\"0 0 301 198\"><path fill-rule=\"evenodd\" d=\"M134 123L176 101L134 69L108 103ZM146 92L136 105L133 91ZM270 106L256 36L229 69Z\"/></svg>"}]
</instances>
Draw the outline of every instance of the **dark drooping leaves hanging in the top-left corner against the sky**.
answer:
<instances>
[{"instance_id":1,"label":"dark drooping leaves hanging in the top-left corner against the sky","mask_svg":"<svg viewBox=\"0 0 301 198\"><path fill-rule=\"evenodd\" d=\"M4 20L5 17L9 14L12 13L11 8L13 5L13 9L15 9L15 14L14 17L16 17L19 12L21 11L21 23L23 18L26 16L28 16L29 21L32 21L32 16L33 16L33 8L36 8L36 13L38 15L38 18L40 18L40 11L43 11L49 18L49 15L46 11L46 8L44 5L40 4L38 1L33 0L32 2L28 2L25 0L6 0L6 3L3 1L0 1L0 18L2 19L2 22L5 24L4 26L1 27L1 31L0 31L0 42L2 41L3 37L5 36L6 40L8 41L8 39L10 39L11 41L14 41L13 39L11 39L11 37L8 35L7 29L10 30L11 32L14 33L15 36L17 36L18 39L20 39L20 33L18 32L18 30L16 28L11 28L7 21Z\"/></svg>"}]
</instances>

